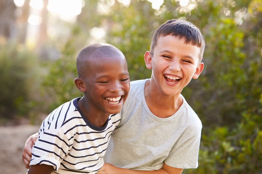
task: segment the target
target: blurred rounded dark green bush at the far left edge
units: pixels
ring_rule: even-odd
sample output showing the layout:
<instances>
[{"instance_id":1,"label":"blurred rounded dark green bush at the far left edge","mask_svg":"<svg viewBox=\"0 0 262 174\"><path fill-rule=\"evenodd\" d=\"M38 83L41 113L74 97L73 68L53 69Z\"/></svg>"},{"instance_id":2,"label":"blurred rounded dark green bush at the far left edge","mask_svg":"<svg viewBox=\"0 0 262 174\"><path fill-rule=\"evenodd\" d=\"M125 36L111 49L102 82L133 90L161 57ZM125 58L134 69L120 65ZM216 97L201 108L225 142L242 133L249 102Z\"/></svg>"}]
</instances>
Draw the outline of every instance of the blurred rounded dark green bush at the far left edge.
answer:
<instances>
[{"instance_id":1,"label":"blurred rounded dark green bush at the far left edge","mask_svg":"<svg viewBox=\"0 0 262 174\"><path fill-rule=\"evenodd\" d=\"M38 85L38 56L14 43L0 45L0 119L28 114Z\"/></svg>"}]
</instances>

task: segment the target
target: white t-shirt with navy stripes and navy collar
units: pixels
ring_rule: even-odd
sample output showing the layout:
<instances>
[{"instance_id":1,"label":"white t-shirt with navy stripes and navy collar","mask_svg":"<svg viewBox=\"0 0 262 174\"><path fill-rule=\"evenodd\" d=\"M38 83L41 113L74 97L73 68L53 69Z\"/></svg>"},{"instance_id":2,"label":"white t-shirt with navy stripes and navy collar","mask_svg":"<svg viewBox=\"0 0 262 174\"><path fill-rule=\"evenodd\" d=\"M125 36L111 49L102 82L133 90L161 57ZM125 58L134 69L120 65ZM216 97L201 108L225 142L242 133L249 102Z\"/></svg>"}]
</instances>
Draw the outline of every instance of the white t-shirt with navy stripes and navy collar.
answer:
<instances>
[{"instance_id":1,"label":"white t-shirt with navy stripes and navy collar","mask_svg":"<svg viewBox=\"0 0 262 174\"><path fill-rule=\"evenodd\" d=\"M30 166L52 165L52 174L95 174L103 166L110 135L120 115L110 115L105 127L96 127L86 119L77 99L59 106L43 121Z\"/></svg>"}]
</instances>

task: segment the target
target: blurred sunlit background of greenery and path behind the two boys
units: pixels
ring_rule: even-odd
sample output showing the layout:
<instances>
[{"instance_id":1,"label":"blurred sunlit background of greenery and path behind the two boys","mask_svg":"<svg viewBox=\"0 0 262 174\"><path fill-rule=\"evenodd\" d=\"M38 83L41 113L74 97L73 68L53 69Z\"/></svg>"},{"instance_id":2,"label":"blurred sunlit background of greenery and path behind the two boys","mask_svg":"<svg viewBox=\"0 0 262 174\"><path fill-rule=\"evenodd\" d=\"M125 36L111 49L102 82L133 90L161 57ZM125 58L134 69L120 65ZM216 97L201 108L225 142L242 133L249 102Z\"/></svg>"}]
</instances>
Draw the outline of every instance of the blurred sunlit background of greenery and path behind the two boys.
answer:
<instances>
[{"instance_id":1,"label":"blurred sunlit background of greenery and path behind the two boys","mask_svg":"<svg viewBox=\"0 0 262 174\"><path fill-rule=\"evenodd\" d=\"M199 167L183 173L261 174L262 0L0 0L1 172L25 173L27 137L82 96L74 79L84 46L113 44L131 80L150 78L144 53L174 18L206 39L205 68L182 92L203 124Z\"/></svg>"}]
</instances>

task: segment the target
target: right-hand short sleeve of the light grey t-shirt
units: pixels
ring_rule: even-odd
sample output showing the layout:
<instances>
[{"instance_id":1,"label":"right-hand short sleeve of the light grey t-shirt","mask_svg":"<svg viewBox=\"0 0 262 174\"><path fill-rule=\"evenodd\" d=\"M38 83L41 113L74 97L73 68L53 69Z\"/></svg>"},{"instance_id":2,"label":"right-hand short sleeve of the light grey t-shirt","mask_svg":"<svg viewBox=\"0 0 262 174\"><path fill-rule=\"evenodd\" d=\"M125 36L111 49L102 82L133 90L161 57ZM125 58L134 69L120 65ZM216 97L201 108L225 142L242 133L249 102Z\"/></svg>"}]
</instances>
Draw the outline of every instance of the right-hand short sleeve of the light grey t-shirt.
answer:
<instances>
[{"instance_id":1,"label":"right-hand short sleeve of the light grey t-shirt","mask_svg":"<svg viewBox=\"0 0 262 174\"><path fill-rule=\"evenodd\" d=\"M182 144L175 144L164 163L176 168L197 168L201 131Z\"/></svg>"}]
</instances>

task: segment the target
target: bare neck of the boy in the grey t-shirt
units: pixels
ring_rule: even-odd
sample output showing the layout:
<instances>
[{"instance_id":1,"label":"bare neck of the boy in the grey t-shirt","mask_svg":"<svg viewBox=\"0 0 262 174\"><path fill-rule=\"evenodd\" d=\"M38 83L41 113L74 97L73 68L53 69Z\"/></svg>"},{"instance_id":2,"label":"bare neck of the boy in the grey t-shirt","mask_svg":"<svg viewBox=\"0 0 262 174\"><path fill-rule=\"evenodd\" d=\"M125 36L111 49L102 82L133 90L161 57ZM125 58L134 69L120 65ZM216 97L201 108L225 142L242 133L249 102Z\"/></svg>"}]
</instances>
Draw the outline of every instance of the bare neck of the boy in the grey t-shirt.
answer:
<instances>
[{"instance_id":1,"label":"bare neck of the boy in the grey t-shirt","mask_svg":"<svg viewBox=\"0 0 262 174\"><path fill-rule=\"evenodd\" d=\"M151 80L146 82L144 93L149 110L159 118L174 115L183 104L180 93L172 96L161 94L153 87Z\"/></svg>"}]
</instances>

